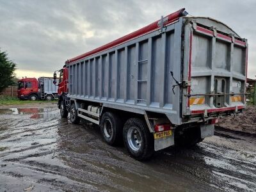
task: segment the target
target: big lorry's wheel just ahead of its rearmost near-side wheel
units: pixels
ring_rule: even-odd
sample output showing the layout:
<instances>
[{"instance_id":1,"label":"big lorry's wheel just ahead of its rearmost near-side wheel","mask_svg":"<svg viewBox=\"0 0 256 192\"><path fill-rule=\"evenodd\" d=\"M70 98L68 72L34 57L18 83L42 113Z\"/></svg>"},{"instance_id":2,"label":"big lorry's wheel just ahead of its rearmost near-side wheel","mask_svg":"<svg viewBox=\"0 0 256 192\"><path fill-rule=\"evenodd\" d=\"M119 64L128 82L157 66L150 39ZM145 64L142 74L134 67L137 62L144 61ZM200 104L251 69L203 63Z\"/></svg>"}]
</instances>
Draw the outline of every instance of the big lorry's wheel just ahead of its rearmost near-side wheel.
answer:
<instances>
[{"instance_id":1,"label":"big lorry's wheel just ahead of its rearmost near-side wheel","mask_svg":"<svg viewBox=\"0 0 256 192\"><path fill-rule=\"evenodd\" d=\"M122 141L122 121L114 113L106 112L100 120L100 131L108 145Z\"/></svg>"}]
</instances>

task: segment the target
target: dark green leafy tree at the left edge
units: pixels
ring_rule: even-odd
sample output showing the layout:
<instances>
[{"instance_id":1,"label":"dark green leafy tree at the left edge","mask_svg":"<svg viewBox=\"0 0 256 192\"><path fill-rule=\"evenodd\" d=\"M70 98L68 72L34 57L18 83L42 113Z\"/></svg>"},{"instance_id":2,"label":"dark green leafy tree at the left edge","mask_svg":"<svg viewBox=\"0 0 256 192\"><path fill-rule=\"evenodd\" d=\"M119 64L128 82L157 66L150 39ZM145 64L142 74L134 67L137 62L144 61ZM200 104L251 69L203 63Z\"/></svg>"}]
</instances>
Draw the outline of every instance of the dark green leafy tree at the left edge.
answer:
<instances>
[{"instance_id":1,"label":"dark green leafy tree at the left edge","mask_svg":"<svg viewBox=\"0 0 256 192\"><path fill-rule=\"evenodd\" d=\"M16 64L8 58L7 52L0 50L0 93L4 88L14 84Z\"/></svg>"}]
</instances>

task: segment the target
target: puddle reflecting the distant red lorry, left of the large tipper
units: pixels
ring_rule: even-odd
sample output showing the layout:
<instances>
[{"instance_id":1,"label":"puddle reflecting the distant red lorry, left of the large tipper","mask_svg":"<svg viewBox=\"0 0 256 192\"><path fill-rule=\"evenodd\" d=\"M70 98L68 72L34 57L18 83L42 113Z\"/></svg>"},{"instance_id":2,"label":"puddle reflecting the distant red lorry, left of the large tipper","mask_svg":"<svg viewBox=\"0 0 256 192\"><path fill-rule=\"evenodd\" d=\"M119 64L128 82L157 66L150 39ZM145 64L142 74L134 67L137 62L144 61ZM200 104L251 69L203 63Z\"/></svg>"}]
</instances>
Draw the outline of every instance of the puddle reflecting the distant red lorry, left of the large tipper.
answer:
<instances>
[{"instance_id":1,"label":"puddle reflecting the distant red lorry, left of the large tipper","mask_svg":"<svg viewBox=\"0 0 256 192\"><path fill-rule=\"evenodd\" d=\"M56 108L9 108L0 109L0 114L31 115L30 118L54 118L58 116Z\"/></svg>"}]
</instances>

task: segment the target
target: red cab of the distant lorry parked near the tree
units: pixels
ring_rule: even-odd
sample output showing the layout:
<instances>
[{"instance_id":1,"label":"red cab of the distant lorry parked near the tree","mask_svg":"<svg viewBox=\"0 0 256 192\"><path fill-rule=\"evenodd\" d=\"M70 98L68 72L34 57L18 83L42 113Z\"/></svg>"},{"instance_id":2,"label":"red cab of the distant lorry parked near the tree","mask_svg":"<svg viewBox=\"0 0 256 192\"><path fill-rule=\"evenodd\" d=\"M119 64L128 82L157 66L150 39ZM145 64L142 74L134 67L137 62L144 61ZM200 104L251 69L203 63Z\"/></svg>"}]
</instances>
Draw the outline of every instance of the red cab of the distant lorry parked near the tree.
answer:
<instances>
[{"instance_id":1,"label":"red cab of the distant lorry parked near the tree","mask_svg":"<svg viewBox=\"0 0 256 192\"><path fill-rule=\"evenodd\" d=\"M38 99L38 81L36 78L23 78L18 81L19 99Z\"/></svg>"}]
</instances>

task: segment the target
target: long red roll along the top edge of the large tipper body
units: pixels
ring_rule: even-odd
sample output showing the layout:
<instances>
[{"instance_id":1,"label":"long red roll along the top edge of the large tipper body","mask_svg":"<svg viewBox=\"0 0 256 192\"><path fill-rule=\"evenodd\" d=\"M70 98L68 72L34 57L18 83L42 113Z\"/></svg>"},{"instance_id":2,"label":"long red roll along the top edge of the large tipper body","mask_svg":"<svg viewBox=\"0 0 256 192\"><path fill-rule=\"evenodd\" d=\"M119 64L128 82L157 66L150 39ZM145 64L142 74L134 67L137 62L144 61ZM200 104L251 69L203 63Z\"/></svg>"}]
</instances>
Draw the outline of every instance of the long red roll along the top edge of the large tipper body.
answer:
<instances>
[{"instance_id":1,"label":"long red roll along the top edge of the large tipper body","mask_svg":"<svg viewBox=\"0 0 256 192\"><path fill-rule=\"evenodd\" d=\"M174 20L179 19L179 17L186 16L187 14L188 13L185 12L185 8L182 8L181 10L179 10L177 12L171 13L170 15L167 15L166 17L164 17L164 25L169 24L170 22L173 22ZM127 42L128 40L131 40L132 38L141 36L145 33L148 33L149 31L153 31L154 29L160 28L160 26L159 26L160 21L161 20L157 20L156 22L153 22L152 24L149 24L148 26L145 26L144 28L138 29L137 31L134 31L128 35L122 36L121 38L118 38L118 39L114 40L113 42L110 42L106 45L102 45L101 47L98 47L97 49L93 49L92 51L86 52L84 54L76 56L75 58L67 60L66 64L71 63L73 61L81 60L82 58L85 58L85 57L95 54L97 52L107 50L111 47L115 47L116 45Z\"/></svg>"}]
</instances>

